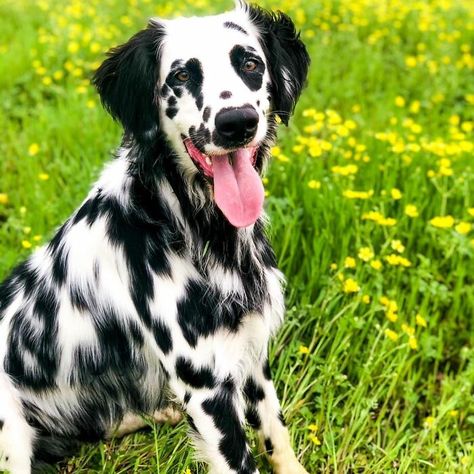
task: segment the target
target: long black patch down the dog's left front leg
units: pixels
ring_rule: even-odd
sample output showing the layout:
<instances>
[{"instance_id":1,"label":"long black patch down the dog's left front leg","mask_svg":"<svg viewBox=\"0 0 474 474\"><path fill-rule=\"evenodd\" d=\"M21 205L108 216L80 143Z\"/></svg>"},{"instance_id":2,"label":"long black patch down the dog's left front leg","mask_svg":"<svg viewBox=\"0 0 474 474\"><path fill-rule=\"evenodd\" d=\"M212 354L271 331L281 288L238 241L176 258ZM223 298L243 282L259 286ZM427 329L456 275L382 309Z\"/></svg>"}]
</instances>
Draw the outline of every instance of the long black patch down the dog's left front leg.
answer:
<instances>
[{"instance_id":1,"label":"long black patch down the dog's left front leg","mask_svg":"<svg viewBox=\"0 0 474 474\"><path fill-rule=\"evenodd\" d=\"M214 398L205 400L202 408L212 417L216 428L222 434L219 451L230 468L240 473L246 472L242 471L245 467L248 472L253 472L255 463L247 456L245 431L237 416L232 396L232 392L223 389Z\"/></svg>"}]
</instances>

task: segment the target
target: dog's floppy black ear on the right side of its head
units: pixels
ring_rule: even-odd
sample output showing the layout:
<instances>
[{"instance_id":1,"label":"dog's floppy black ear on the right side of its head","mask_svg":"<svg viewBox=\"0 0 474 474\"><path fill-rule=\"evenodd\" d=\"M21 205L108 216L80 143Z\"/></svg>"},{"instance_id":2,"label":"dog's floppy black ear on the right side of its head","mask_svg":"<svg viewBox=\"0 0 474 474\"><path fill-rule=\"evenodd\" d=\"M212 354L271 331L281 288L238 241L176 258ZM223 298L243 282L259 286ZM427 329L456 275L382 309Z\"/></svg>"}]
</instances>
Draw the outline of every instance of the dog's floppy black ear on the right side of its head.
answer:
<instances>
[{"instance_id":1,"label":"dog's floppy black ear on the right side of its head","mask_svg":"<svg viewBox=\"0 0 474 474\"><path fill-rule=\"evenodd\" d=\"M260 32L260 42L269 62L275 113L288 125L306 83L310 57L288 15L269 12L256 5L245 5L245 8Z\"/></svg>"}]
</instances>

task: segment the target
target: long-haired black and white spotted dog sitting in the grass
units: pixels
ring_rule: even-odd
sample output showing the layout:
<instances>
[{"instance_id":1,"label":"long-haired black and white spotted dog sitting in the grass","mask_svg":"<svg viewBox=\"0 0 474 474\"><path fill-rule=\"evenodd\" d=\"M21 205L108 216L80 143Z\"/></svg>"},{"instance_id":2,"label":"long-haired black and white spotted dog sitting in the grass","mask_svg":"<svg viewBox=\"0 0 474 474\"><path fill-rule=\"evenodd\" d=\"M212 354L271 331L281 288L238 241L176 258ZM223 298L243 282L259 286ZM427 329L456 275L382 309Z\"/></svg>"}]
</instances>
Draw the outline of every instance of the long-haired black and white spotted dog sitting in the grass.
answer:
<instances>
[{"instance_id":1,"label":"long-haired black and white spotted dog sitting in the grass","mask_svg":"<svg viewBox=\"0 0 474 474\"><path fill-rule=\"evenodd\" d=\"M94 84L116 158L0 286L0 469L187 413L212 473L302 474L267 345L284 312L260 175L309 57L283 13L153 19Z\"/></svg>"}]
</instances>

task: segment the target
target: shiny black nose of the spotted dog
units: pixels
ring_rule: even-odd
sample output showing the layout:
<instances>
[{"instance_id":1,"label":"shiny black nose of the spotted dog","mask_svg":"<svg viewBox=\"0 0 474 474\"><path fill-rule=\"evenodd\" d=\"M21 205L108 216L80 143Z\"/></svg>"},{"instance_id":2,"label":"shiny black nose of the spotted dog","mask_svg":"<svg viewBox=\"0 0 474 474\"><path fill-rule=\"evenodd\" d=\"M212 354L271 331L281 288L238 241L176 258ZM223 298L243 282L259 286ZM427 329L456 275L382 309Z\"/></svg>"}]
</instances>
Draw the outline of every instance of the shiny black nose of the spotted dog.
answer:
<instances>
[{"instance_id":1,"label":"shiny black nose of the spotted dog","mask_svg":"<svg viewBox=\"0 0 474 474\"><path fill-rule=\"evenodd\" d=\"M257 133L258 113L251 105L222 109L216 115L216 132L226 145L248 143Z\"/></svg>"}]
</instances>

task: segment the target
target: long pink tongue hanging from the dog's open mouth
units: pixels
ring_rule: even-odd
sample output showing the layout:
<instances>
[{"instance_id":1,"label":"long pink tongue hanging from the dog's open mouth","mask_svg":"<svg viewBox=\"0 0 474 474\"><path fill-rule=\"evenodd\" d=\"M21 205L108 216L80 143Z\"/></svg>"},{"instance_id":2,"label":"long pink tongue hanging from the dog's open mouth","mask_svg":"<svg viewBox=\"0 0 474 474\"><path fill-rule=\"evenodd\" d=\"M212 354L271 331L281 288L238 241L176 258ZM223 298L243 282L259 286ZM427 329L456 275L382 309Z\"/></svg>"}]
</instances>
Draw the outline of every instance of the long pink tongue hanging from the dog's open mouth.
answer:
<instances>
[{"instance_id":1,"label":"long pink tongue hanging from the dog's open mouth","mask_svg":"<svg viewBox=\"0 0 474 474\"><path fill-rule=\"evenodd\" d=\"M229 155L214 156L214 196L216 204L235 227L247 227L260 217L263 184L252 166L254 149L240 148Z\"/></svg>"}]
</instances>

